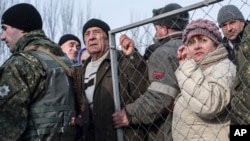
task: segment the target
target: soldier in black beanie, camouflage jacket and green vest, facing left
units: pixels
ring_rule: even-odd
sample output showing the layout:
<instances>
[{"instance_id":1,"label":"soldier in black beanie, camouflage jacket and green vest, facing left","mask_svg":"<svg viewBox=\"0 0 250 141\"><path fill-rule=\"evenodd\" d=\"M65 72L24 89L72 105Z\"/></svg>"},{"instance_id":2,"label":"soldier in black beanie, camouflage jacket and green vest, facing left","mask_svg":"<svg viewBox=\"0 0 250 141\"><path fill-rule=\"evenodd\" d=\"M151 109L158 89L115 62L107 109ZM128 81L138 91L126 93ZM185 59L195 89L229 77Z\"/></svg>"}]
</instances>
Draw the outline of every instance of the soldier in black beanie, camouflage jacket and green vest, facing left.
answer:
<instances>
[{"instance_id":1,"label":"soldier in black beanie, camouflage jacket and green vest, facing left","mask_svg":"<svg viewBox=\"0 0 250 141\"><path fill-rule=\"evenodd\" d=\"M66 73L45 53L26 51L36 46L64 57L45 36L39 12L30 4L14 5L3 13L1 25L1 40L12 55L0 68L0 140L75 140L76 128L69 125L76 115L75 99Z\"/></svg>"}]
</instances>

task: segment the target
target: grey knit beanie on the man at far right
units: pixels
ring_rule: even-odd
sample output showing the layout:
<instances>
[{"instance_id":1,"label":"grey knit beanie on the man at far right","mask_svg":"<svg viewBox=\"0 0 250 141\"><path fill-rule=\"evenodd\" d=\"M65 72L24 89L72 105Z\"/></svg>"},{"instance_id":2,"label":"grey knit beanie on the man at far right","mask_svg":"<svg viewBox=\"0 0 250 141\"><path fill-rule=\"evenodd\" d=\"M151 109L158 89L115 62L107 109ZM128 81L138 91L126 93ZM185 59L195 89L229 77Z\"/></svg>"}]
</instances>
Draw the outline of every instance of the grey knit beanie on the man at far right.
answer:
<instances>
[{"instance_id":1,"label":"grey knit beanie on the man at far right","mask_svg":"<svg viewBox=\"0 0 250 141\"><path fill-rule=\"evenodd\" d=\"M223 23L232 20L244 21L244 16L241 11L234 5L226 5L219 10L217 21L221 26Z\"/></svg>"}]
</instances>

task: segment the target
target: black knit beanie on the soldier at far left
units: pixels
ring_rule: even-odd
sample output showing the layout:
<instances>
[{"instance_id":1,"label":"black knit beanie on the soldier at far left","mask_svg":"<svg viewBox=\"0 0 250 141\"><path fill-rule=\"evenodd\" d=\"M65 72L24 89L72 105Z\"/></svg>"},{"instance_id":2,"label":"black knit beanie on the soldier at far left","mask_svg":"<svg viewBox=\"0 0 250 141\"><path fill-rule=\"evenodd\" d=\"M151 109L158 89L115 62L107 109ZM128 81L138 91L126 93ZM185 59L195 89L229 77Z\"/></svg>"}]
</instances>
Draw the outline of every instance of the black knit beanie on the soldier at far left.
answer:
<instances>
[{"instance_id":1,"label":"black knit beanie on the soldier at far left","mask_svg":"<svg viewBox=\"0 0 250 141\"><path fill-rule=\"evenodd\" d=\"M42 29L42 18L33 5L20 3L10 7L3 13L1 24L30 32Z\"/></svg>"}]
</instances>

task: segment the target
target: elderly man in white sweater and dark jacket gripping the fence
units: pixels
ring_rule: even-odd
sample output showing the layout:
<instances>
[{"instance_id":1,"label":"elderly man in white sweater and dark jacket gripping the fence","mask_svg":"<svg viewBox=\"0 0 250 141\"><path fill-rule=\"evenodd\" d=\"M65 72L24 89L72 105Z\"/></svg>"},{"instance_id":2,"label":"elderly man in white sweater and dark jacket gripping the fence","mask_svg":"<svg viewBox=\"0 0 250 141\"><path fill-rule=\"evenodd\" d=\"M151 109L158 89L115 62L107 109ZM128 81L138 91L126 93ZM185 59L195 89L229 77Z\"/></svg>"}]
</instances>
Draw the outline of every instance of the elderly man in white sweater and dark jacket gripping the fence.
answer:
<instances>
[{"instance_id":1,"label":"elderly man in white sweater and dark jacket gripping the fence","mask_svg":"<svg viewBox=\"0 0 250 141\"><path fill-rule=\"evenodd\" d=\"M90 113L88 141L117 141L116 129L112 121L115 112L112 87L111 58L108 31L109 25L100 19L90 19L83 26L83 41L90 57L83 65L83 95L87 98ZM117 51L119 88L121 104L133 102L146 90L147 64L134 49L132 40L120 37L122 51ZM116 59L116 58L112 58ZM145 136L139 126L125 129L125 140L134 141Z\"/></svg>"}]
</instances>

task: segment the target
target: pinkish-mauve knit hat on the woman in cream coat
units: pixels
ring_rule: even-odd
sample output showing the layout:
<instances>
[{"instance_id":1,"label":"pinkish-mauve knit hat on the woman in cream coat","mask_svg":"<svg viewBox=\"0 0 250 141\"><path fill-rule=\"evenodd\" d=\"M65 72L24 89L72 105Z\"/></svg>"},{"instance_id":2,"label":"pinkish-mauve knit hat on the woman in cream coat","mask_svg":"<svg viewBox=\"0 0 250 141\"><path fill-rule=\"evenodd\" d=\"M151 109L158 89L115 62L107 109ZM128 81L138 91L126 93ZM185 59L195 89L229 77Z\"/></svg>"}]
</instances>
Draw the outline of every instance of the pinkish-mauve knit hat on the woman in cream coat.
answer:
<instances>
[{"instance_id":1,"label":"pinkish-mauve knit hat on the woman in cream coat","mask_svg":"<svg viewBox=\"0 0 250 141\"><path fill-rule=\"evenodd\" d=\"M182 34L182 41L184 44L195 35L204 35L213 40L217 45L222 41L222 36L219 27L209 20L197 19L190 22Z\"/></svg>"}]
</instances>

